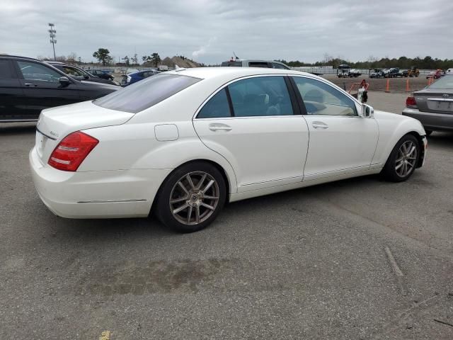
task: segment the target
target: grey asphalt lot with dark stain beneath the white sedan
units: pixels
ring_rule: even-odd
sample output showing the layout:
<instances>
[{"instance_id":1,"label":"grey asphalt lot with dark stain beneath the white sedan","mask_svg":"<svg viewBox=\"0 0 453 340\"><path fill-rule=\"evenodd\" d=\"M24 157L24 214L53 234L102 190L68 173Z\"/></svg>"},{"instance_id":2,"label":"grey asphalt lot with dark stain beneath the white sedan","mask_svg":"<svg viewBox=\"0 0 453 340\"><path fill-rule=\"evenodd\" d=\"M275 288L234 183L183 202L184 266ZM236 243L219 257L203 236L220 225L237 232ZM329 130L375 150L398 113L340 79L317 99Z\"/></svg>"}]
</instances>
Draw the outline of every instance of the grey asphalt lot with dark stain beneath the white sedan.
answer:
<instances>
[{"instance_id":1,"label":"grey asphalt lot with dark stain beneath the white sedan","mask_svg":"<svg viewBox=\"0 0 453 340\"><path fill-rule=\"evenodd\" d=\"M453 339L452 133L405 183L231 203L194 234L55 217L34 140L0 125L0 339Z\"/></svg>"}]
</instances>

